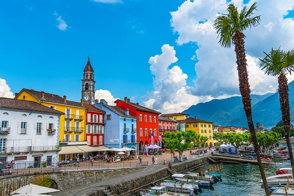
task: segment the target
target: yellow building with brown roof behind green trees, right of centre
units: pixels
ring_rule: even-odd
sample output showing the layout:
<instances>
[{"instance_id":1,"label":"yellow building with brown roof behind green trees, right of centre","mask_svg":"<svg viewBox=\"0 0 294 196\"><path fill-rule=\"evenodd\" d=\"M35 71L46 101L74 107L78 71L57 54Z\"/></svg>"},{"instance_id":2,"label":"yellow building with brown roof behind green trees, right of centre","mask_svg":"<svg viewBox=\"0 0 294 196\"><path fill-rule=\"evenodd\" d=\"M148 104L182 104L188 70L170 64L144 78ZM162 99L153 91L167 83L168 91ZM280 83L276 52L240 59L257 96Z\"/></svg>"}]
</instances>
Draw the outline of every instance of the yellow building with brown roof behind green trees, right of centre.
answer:
<instances>
[{"instance_id":1,"label":"yellow building with brown roof behind green trees, right of centre","mask_svg":"<svg viewBox=\"0 0 294 196\"><path fill-rule=\"evenodd\" d=\"M197 134L203 135L208 138L208 141L205 144L205 146L213 145L213 122L200 120L197 118L187 118L183 120L183 122L186 123L185 130L194 130Z\"/></svg>"}]
</instances>

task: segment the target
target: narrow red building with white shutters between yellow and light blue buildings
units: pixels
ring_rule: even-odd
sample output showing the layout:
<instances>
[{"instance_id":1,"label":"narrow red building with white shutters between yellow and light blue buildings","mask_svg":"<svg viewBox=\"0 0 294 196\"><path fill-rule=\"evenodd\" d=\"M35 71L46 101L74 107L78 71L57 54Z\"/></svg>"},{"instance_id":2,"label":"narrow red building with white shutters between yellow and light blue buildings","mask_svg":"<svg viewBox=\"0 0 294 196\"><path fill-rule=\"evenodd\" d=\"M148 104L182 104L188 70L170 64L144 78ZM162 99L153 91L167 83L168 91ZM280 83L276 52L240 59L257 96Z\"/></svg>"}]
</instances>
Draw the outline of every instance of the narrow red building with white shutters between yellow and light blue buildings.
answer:
<instances>
[{"instance_id":1,"label":"narrow red building with white shutters between yellow and light blue buildings","mask_svg":"<svg viewBox=\"0 0 294 196\"><path fill-rule=\"evenodd\" d=\"M92 105L84 104L86 110L86 141L89 146L102 146L104 141L104 114Z\"/></svg>"}]
</instances>

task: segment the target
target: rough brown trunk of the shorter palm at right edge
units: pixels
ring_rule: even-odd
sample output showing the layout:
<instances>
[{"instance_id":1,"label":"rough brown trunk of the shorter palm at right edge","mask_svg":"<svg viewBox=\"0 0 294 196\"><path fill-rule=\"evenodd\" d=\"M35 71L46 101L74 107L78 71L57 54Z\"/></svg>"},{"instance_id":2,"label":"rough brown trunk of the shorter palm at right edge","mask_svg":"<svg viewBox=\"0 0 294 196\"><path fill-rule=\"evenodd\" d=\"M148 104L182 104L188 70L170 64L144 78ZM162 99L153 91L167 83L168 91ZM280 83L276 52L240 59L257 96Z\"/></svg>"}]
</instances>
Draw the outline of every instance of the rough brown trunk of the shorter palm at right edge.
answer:
<instances>
[{"instance_id":1,"label":"rough brown trunk of the shorter palm at right edge","mask_svg":"<svg viewBox=\"0 0 294 196\"><path fill-rule=\"evenodd\" d=\"M292 146L290 142L290 106L289 106L289 87L288 87L288 79L285 74L281 73L278 77L278 84L279 84L279 95L280 95L280 105L281 105L281 111L282 111L282 120L284 124L284 130L285 130L285 138L287 141L288 151L289 151L289 157L290 162L292 166L292 171L294 171L294 158L293 158L293 151Z\"/></svg>"}]
</instances>

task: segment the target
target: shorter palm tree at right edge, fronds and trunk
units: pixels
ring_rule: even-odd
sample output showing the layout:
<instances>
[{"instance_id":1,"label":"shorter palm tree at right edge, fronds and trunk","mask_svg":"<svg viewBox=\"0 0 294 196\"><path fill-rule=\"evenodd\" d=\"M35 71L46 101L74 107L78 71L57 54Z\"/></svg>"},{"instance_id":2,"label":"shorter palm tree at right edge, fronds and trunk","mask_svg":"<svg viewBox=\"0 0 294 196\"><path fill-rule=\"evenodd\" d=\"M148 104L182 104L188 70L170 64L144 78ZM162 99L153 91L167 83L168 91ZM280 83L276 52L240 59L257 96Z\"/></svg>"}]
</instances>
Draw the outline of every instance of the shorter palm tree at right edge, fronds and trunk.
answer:
<instances>
[{"instance_id":1,"label":"shorter palm tree at right edge, fronds and trunk","mask_svg":"<svg viewBox=\"0 0 294 196\"><path fill-rule=\"evenodd\" d=\"M294 50L292 51L282 51L272 50L269 54L263 52L266 57L264 59L260 59L260 67L262 70L265 69L265 74L270 76L278 76L278 92L280 95L280 106L282 111L282 120L283 126L285 130L285 138L287 141L288 151L290 162L292 166L292 171L294 171L294 158L293 158L293 151L290 142L290 106L289 106L289 87L288 87L288 80L286 74L290 73L294 69Z\"/></svg>"}]
</instances>

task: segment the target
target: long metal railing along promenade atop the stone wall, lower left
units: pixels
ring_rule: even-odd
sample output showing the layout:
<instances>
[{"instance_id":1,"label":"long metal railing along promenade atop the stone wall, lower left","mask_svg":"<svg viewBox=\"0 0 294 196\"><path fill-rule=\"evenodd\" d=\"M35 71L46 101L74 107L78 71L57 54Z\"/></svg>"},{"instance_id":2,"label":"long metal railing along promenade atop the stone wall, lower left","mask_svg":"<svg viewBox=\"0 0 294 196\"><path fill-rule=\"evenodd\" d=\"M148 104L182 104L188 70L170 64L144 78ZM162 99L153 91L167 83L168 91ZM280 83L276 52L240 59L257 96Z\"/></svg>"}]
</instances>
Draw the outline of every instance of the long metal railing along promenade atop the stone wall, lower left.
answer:
<instances>
[{"instance_id":1,"label":"long metal railing along promenade atop the stone wall, lower left","mask_svg":"<svg viewBox=\"0 0 294 196\"><path fill-rule=\"evenodd\" d=\"M14 164L11 162L3 162L0 164L0 172L4 174L23 174L34 172L55 172L55 171L77 171L77 170L92 170L92 169L118 169L118 168L136 168L147 167L148 161L138 162L98 162L95 161L91 164L90 161L16 161Z\"/></svg>"}]
</instances>

